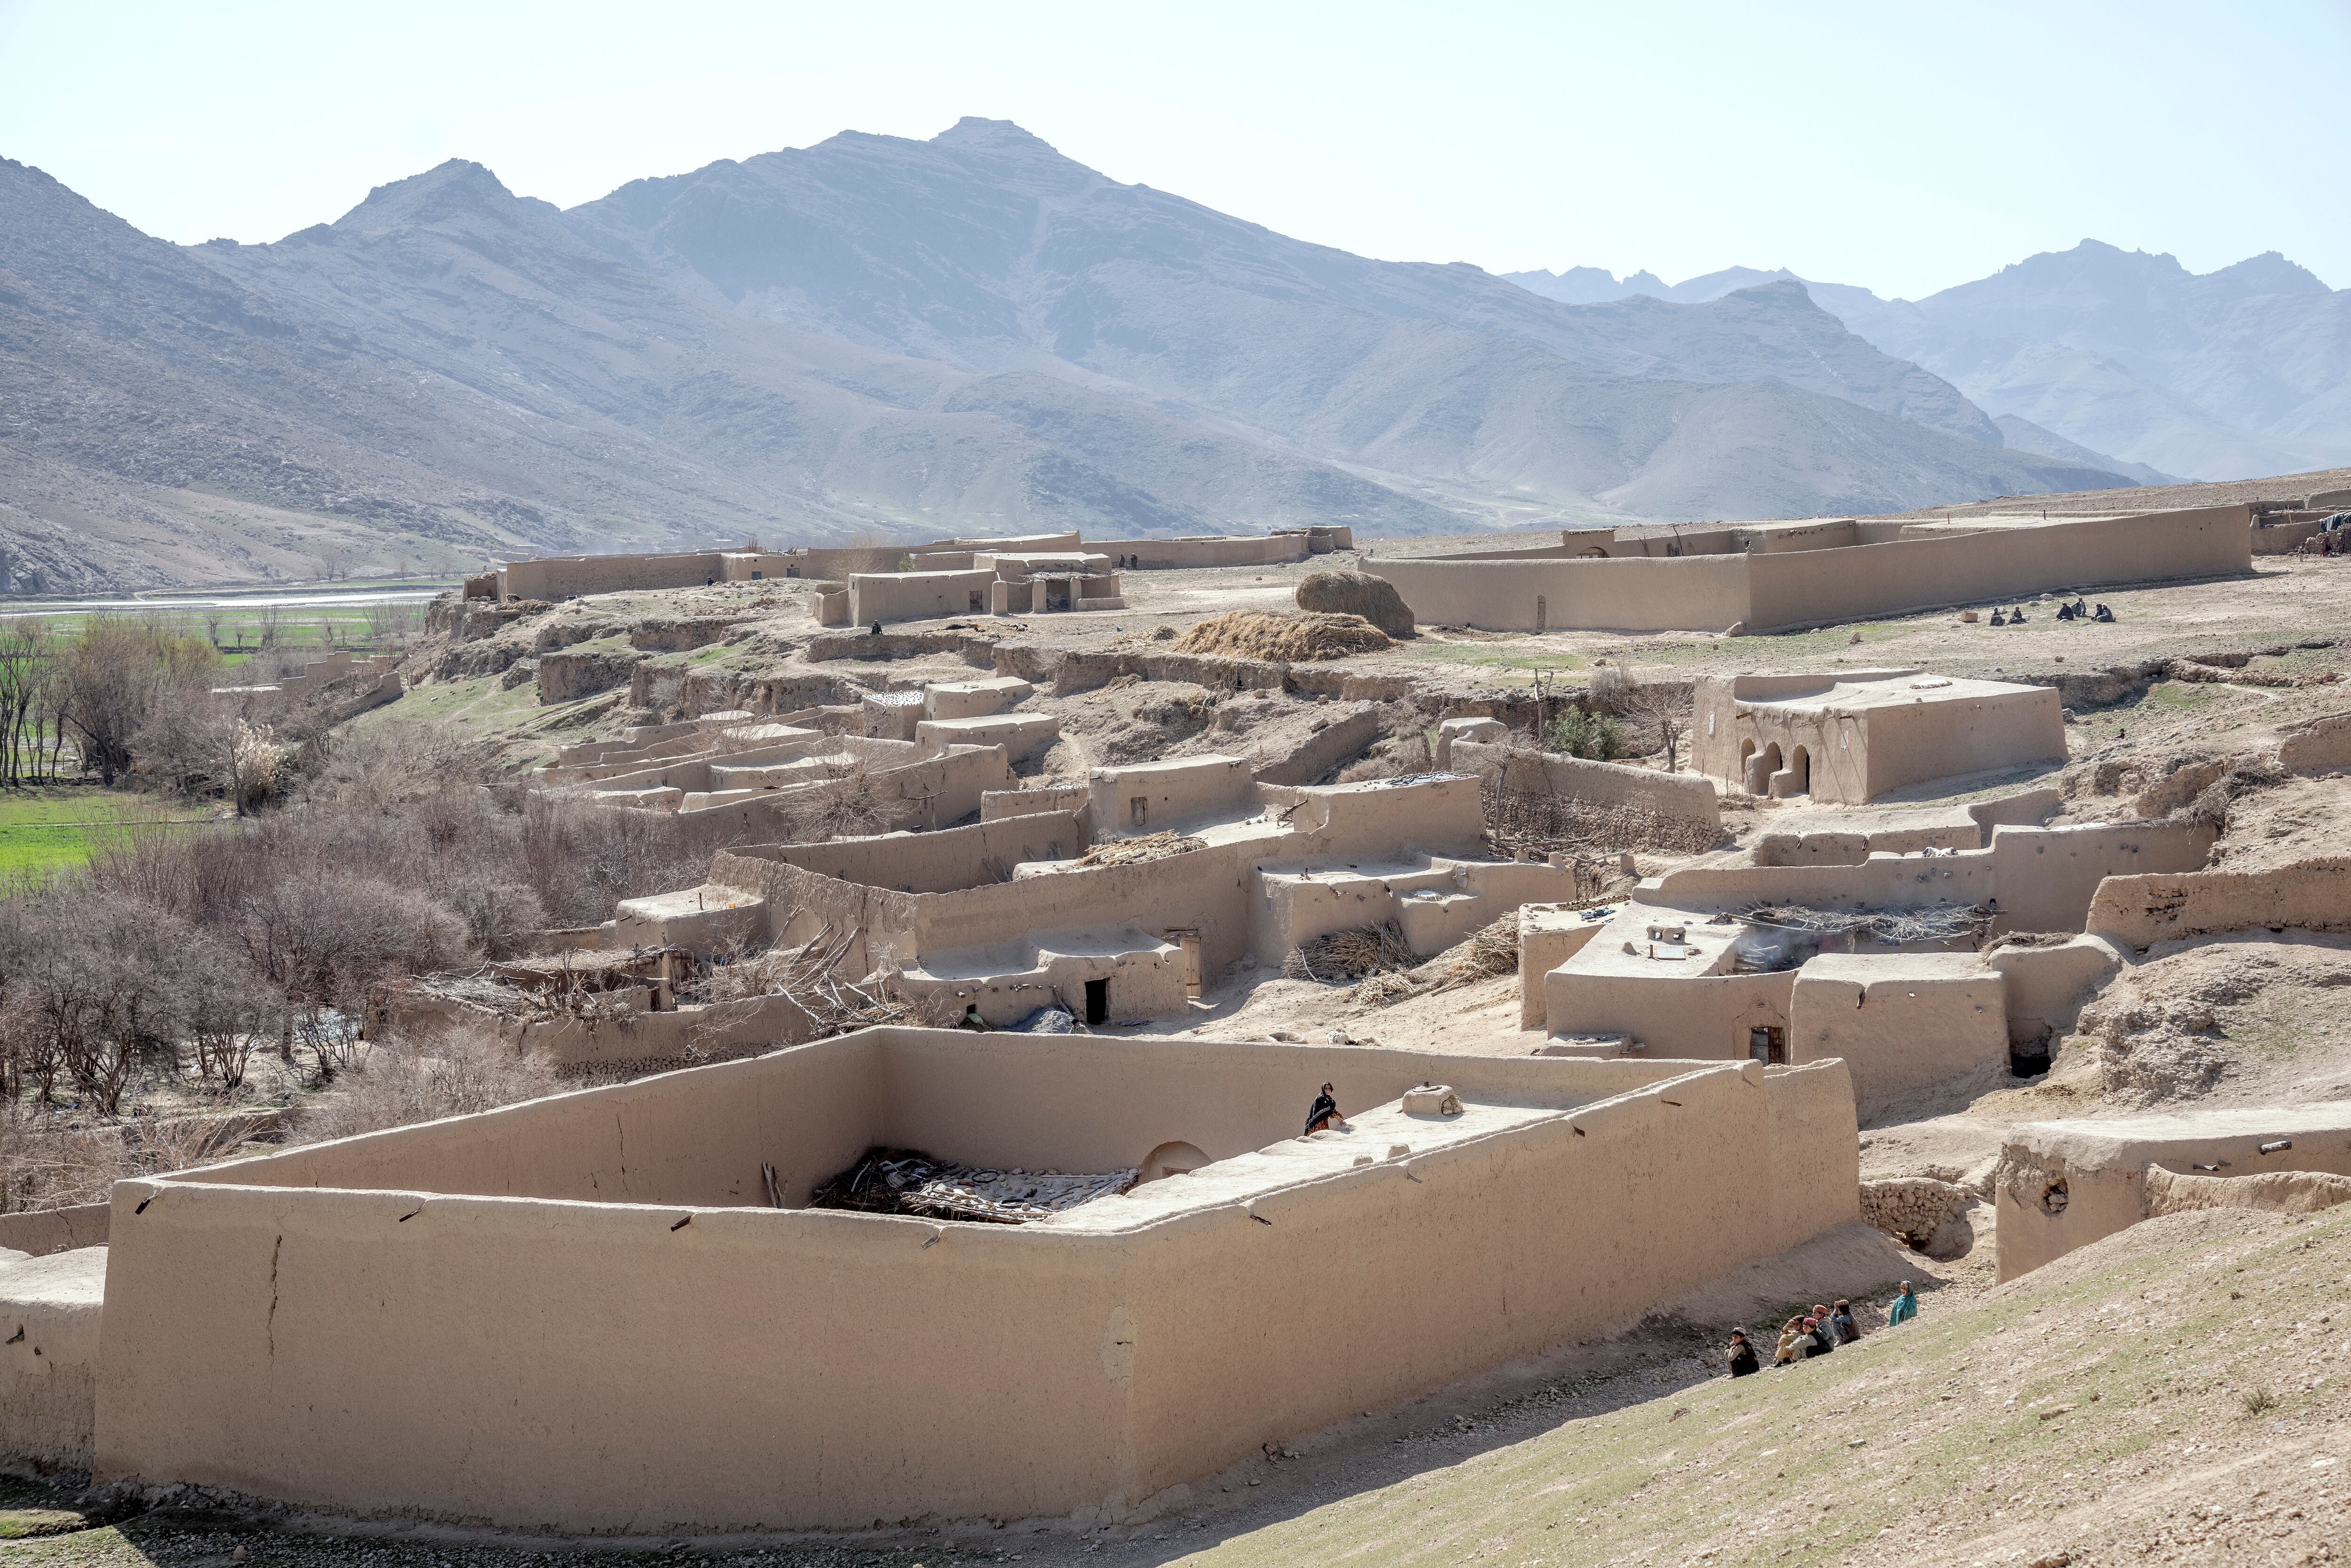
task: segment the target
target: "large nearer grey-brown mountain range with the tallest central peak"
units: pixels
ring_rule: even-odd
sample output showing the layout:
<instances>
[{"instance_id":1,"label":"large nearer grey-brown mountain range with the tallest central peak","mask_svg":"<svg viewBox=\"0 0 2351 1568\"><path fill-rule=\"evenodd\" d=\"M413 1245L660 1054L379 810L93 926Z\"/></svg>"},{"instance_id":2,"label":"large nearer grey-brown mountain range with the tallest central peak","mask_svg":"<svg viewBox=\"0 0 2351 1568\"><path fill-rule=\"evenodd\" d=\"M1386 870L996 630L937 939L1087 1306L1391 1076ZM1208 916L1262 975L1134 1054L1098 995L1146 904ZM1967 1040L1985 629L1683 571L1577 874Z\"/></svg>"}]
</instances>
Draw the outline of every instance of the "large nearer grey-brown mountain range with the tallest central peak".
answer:
<instances>
[{"instance_id":1,"label":"large nearer grey-brown mountain range with the tallest central peak","mask_svg":"<svg viewBox=\"0 0 2351 1568\"><path fill-rule=\"evenodd\" d=\"M0 162L0 548L19 588L89 590L743 534L1874 512L2139 477L1994 418L1806 284L1749 282L1561 303L1121 186L1002 120L569 212L447 162L275 244L167 244Z\"/></svg>"}]
</instances>

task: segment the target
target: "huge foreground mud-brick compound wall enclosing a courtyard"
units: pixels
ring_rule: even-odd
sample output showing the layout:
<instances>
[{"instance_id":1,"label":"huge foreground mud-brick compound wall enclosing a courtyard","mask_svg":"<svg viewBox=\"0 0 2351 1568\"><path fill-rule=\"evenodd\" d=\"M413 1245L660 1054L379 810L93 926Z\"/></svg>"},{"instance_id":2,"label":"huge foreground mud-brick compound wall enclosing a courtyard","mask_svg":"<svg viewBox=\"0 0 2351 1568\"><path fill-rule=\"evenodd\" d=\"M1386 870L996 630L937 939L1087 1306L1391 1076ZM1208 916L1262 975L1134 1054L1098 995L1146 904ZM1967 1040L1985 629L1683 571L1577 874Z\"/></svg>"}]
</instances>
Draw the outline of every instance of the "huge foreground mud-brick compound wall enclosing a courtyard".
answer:
<instances>
[{"instance_id":1,"label":"huge foreground mud-brick compound wall enclosing a courtyard","mask_svg":"<svg viewBox=\"0 0 2351 1568\"><path fill-rule=\"evenodd\" d=\"M1493 1131L1295 1138L1324 1079L1432 1074ZM830 1039L118 1185L96 1474L614 1533L1119 1519L1855 1222L1853 1128L1836 1063ZM1178 1138L1234 1164L1100 1218L799 1208L877 1143Z\"/></svg>"}]
</instances>

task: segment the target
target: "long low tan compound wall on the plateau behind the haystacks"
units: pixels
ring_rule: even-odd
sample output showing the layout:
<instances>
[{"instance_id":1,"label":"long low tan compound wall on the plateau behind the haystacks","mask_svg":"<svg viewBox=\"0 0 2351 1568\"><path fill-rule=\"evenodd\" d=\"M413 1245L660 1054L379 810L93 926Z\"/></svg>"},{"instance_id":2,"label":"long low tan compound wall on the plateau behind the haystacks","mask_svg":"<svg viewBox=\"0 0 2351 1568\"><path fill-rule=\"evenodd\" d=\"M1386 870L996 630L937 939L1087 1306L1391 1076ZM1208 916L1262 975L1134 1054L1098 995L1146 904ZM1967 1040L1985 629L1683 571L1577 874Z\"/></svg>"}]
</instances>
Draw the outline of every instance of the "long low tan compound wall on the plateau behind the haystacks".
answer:
<instances>
[{"instance_id":1,"label":"long low tan compound wall on the plateau behind the haystacks","mask_svg":"<svg viewBox=\"0 0 2351 1568\"><path fill-rule=\"evenodd\" d=\"M1867 531L1857 531L1867 538ZM2022 599L2055 588L2161 583L2252 569L2252 510L2215 505L1824 548L1665 559L1531 552L1387 559L1413 618L1491 630L1770 632Z\"/></svg>"}]
</instances>

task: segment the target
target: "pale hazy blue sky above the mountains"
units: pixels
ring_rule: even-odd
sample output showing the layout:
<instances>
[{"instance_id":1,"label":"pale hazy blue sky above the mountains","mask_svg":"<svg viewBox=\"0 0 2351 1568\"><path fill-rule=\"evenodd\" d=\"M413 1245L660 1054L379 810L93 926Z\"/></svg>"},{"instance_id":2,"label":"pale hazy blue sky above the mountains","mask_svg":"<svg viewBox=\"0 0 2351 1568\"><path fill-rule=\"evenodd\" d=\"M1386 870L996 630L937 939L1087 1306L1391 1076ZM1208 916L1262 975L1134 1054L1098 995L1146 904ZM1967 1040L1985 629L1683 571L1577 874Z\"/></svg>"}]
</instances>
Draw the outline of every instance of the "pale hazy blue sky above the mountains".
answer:
<instances>
[{"instance_id":1,"label":"pale hazy blue sky above the mountains","mask_svg":"<svg viewBox=\"0 0 2351 1568\"><path fill-rule=\"evenodd\" d=\"M2351 0L106 5L0 0L0 155L169 240L475 158L644 174L1018 120L1302 240L1918 296L2099 237L2351 284Z\"/></svg>"}]
</instances>

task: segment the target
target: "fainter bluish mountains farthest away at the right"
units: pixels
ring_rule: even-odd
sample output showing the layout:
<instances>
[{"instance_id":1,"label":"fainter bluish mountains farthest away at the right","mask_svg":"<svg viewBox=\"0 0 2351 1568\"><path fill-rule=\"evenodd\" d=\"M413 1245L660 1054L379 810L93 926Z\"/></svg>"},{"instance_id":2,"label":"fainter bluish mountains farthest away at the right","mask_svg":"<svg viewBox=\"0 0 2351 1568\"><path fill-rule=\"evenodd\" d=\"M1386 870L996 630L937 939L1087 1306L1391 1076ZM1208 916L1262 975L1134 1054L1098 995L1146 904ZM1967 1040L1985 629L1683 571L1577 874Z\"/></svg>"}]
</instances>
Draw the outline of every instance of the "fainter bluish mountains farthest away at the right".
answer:
<instances>
[{"instance_id":1,"label":"fainter bluish mountains farthest away at the right","mask_svg":"<svg viewBox=\"0 0 2351 1568\"><path fill-rule=\"evenodd\" d=\"M1787 268L1726 268L1672 287L1601 268L1509 277L1563 303L1707 303L1803 282L1871 346L1951 381L2001 423L2008 447L2146 482L2351 463L2351 289L2327 289L2278 252L2198 275L2172 256L2083 240L1921 301Z\"/></svg>"}]
</instances>

